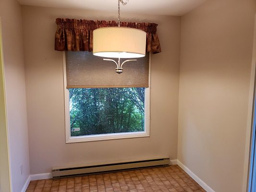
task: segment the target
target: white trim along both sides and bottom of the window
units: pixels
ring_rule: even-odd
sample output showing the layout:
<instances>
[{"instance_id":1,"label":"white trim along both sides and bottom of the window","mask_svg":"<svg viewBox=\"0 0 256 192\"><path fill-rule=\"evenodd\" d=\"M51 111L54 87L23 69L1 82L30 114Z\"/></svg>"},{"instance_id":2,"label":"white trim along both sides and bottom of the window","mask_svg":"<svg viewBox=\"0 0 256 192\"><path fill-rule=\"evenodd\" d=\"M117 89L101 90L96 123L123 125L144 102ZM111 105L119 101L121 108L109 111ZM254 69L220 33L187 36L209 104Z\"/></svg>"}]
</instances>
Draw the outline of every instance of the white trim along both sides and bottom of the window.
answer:
<instances>
[{"instance_id":1,"label":"white trim along both sides and bottom of the window","mask_svg":"<svg viewBox=\"0 0 256 192\"><path fill-rule=\"evenodd\" d=\"M150 130L150 73L151 73L151 54L149 54L149 75L148 84L149 87L145 89L145 131L144 132L122 132L122 133L110 133L110 134L98 134L98 135L85 135L85 136L73 136L71 137L70 130L70 108L69 108L69 90L67 87L66 79L66 56L65 51L62 51L63 55L63 83L64 83L64 106L65 106L65 135L66 144L89 142L89 141L102 141L112 139L127 139L138 137L149 137Z\"/></svg>"}]
</instances>

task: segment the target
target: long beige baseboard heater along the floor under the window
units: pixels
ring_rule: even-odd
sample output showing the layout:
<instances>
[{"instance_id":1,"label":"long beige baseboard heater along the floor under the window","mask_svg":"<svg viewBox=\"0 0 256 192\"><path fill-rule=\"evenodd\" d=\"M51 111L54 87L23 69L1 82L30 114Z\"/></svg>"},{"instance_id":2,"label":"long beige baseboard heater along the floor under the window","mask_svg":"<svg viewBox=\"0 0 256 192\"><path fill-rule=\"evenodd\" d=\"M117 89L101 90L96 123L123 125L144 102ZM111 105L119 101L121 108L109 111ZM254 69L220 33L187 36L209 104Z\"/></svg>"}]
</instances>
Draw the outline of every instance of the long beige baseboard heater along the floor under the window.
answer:
<instances>
[{"instance_id":1,"label":"long beige baseboard heater along the floor under the window","mask_svg":"<svg viewBox=\"0 0 256 192\"><path fill-rule=\"evenodd\" d=\"M100 174L106 172L123 171L129 169L164 167L170 163L169 157L156 157L149 159L134 159L127 161L115 161L105 163L94 163L76 167L53 167L52 177L64 178L81 175Z\"/></svg>"}]
</instances>

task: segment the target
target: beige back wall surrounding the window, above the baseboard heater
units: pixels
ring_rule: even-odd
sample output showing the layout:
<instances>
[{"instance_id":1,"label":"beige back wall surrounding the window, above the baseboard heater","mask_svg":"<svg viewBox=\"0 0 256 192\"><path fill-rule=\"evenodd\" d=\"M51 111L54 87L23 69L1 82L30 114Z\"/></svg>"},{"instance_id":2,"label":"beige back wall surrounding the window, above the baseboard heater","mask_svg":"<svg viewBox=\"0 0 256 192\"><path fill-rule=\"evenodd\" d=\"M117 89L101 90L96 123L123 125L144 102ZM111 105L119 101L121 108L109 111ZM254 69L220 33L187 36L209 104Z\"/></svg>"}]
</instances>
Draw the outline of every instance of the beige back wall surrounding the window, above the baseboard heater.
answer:
<instances>
[{"instance_id":1,"label":"beige back wall surrounding the window, above the baseboard heater","mask_svg":"<svg viewBox=\"0 0 256 192\"><path fill-rule=\"evenodd\" d=\"M116 12L23 6L31 174L52 166L167 155L177 158L181 18L122 14L158 23L162 52L152 55L149 138L65 144L62 53L54 50L55 19L115 20Z\"/></svg>"}]
</instances>

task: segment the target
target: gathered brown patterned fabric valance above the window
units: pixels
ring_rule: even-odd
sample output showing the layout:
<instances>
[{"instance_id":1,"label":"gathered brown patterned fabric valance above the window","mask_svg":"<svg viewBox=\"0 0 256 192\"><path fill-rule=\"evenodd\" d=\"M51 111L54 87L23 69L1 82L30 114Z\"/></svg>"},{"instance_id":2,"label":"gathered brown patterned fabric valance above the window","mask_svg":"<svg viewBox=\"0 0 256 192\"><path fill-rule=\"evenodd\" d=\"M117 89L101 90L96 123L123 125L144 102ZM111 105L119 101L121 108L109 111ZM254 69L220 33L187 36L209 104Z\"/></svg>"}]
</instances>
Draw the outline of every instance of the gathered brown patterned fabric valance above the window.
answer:
<instances>
[{"instance_id":1,"label":"gathered brown patterned fabric valance above the window","mask_svg":"<svg viewBox=\"0 0 256 192\"><path fill-rule=\"evenodd\" d=\"M100 27L118 26L115 21L92 21L76 19L56 19L58 29L55 33L57 51L92 51L93 30ZM132 27L146 32L146 51L161 52L157 35L158 24L121 22L122 27Z\"/></svg>"}]
</instances>

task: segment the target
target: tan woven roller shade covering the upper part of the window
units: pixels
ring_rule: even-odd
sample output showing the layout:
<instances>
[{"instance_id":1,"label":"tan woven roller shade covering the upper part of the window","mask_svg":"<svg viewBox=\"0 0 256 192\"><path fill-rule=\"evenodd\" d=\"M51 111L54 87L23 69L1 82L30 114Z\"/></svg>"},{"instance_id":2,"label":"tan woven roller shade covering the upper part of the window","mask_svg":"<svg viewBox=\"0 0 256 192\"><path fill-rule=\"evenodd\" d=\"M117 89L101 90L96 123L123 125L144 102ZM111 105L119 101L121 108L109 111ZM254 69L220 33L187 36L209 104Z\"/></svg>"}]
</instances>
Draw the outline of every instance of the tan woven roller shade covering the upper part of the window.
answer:
<instances>
[{"instance_id":1,"label":"tan woven roller shade covering the upper part of the window","mask_svg":"<svg viewBox=\"0 0 256 192\"><path fill-rule=\"evenodd\" d=\"M149 53L122 67L123 72L118 74L114 62L92 52L66 51L67 88L148 87Z\"/></svg>"}]
</instances>

